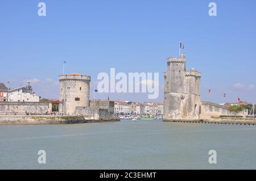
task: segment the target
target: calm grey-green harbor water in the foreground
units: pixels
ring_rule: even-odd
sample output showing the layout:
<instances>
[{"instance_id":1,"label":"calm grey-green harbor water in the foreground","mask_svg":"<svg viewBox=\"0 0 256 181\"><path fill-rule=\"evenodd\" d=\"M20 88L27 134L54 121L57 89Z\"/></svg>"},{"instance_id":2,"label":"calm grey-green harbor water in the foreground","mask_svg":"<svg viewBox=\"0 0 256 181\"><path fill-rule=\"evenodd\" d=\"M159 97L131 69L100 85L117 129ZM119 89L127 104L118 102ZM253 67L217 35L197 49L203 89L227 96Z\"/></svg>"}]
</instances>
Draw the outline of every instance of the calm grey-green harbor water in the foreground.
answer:
<instances>
[{"instance_id":1,"label":"calm grey-green harbor water in the foreground","mask_svg":"<svg viewBox=\"0 0 256 181\"><path fill-rule=\"evenodd\" d=\"M121 120L0 126L0 169L256 169L256 126ZM46 164L38 151L46 151ZM209 151L217 151L210 164Z\"/></svg>"}]
</instances>

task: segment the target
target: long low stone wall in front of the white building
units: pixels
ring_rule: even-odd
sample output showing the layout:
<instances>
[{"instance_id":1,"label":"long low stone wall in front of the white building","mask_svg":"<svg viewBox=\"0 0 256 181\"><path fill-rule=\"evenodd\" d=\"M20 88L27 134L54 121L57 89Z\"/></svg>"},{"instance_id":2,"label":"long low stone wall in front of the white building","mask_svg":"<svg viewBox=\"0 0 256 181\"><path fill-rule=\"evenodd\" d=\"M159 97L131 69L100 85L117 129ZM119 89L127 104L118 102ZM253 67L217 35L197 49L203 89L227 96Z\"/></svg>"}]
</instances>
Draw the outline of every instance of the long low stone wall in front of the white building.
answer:
<instances>
[{"instance_id":1,"label":"long low stone wall in front of the white building","mask_svg":"<svg viewBox=\"0 0 256 181\"><path fill-rule=\"evenodd\" d=\"M52 103L40 102L0 102L0 115L16 113L25 115L26 112L36 115L52 112Z\"/></svg>"}]
</instances>

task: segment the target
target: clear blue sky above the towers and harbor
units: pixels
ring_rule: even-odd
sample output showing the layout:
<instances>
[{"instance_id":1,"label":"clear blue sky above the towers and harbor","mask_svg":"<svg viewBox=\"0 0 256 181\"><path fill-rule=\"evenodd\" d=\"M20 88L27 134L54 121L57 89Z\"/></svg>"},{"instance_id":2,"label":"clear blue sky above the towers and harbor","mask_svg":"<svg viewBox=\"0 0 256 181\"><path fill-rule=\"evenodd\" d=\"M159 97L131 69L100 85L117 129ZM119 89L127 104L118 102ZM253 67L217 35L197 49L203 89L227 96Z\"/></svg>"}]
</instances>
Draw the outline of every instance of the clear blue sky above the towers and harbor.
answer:
<instances>
[{"instance_id":1,"label":"clear blue sky above the towers and harbor","mask_svg":"<svg viewBox=\"0 0 256 181\"><path fill-rule=\"evenodd\" d=\"M47 16L38 16L38 3ZM208 4L217 3L217 16ZM202 73L201 99L256 102L256 1L1 1L0 82L27 79L38 95L58 98L58 75L158 72L185 44L187 69ZM208 90L212 89L209 94ZM224 99L223 94L226 93ZM91 93L92 94L92 93ZM147 101L147 94L96 98ZM92 96L91 96L92 98ZM163 101L160 87L159 99Z\"/></svg>"}]
</instances>

